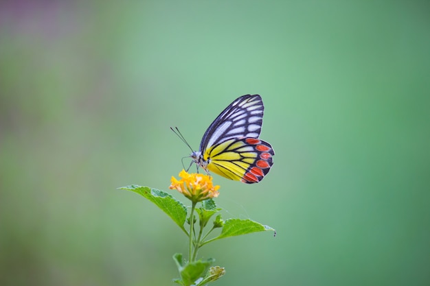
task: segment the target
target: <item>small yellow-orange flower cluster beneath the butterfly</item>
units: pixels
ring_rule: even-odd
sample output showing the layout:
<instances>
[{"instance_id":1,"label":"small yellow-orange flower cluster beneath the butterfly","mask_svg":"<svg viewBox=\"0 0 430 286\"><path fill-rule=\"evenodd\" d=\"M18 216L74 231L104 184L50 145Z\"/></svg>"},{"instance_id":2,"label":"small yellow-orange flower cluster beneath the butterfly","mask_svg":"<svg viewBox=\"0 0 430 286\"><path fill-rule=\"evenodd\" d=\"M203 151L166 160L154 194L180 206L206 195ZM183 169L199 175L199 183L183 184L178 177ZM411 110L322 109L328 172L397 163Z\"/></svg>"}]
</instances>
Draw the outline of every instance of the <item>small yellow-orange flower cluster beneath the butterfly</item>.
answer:
<instances>
[{"instance_id":1,"label":"small yellow-orange flower cluster beneath the butterfly","mask_svg":"<svg viewBox=\"0 0 430 286\"><path fill-rule=\"evenodd\" d=\"M188 174L185 170L179 173L181 180L172 176L172 184L169 189L177 189L192 202L216 198L219 195L220 186L212 184L212 177L203 174Z\"/></svg>"}]
</instances>

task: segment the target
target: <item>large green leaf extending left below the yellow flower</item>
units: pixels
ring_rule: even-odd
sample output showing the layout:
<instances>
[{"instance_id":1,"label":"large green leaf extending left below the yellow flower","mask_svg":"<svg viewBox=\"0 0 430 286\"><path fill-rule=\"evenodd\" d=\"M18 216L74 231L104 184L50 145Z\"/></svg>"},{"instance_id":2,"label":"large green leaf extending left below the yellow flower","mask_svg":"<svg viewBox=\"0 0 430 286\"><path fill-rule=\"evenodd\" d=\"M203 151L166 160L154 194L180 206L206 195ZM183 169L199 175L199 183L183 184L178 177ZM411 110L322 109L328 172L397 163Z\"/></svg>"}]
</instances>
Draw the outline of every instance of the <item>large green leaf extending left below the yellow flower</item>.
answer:
<instances>
[{"instance_id":1,"label":"large green leaf extending left below the yellow flower","mask_svg":"<svg viewBox=\"0 0 430 286\"><path fill-rule=\"evenodd\" d=\"M187 207L179 202L179 200L173 198L170 193L152 189L150 187L137 186L135 184L127 187L121 187L119 189L133 191L139 195L142 195L144 198L147 198L156 206L158 206L161 211L173 219L173 221L188 235L187 230L185 230L183 226L187 217Z\"/></svg>"}]
</instances>

